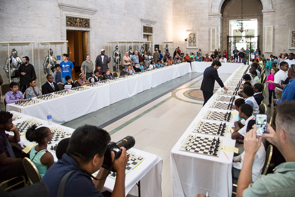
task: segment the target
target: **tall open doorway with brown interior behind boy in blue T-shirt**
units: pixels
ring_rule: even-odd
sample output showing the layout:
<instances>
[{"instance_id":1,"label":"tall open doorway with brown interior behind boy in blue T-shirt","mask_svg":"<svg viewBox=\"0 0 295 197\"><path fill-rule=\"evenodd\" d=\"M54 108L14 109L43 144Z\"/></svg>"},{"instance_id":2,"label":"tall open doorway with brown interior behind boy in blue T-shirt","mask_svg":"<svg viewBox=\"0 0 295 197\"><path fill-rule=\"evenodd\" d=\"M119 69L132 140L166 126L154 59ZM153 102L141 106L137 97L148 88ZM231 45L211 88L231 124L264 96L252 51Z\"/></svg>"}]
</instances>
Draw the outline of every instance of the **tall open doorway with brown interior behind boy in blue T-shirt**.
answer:
<instances>
[{"instance_id":1,"label":"tall open doorway with brown interior behind boy in blue T-shirt","mask_svg":"<svg viewBox=\"0 0 295 197\"><path fill-rule=\"evenodd\" d=\"M68 40L69 61L73 62L74 70L72 79L79 79L81 65L86 60L87 55L87 32L86 31L66 31L66 40Z\"/></svg>"}]
</instances>

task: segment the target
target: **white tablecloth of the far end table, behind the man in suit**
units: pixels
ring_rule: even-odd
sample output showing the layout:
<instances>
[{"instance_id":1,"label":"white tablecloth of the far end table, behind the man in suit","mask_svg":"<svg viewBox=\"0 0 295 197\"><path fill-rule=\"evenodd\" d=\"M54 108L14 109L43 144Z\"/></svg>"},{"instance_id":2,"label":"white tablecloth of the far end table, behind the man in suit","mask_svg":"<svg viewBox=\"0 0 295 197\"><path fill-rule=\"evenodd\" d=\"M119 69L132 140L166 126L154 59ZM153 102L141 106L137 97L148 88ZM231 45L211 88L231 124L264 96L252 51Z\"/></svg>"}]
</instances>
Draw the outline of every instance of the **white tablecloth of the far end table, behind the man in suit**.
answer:
<instances>
[{"instance_id":1,"label":"white tablecloth of the far end table, behind the man in suit","mask_svg":"<svg viewBox=\"0 0 295 197\"><path fill-rule=\"evenodd\" d=\"M212 62L192 62L192 72L204 72L204 70L211 66ZM218 68L218 74L232 74L240 63L221 63Z\"/></svg>"}]
</instances>

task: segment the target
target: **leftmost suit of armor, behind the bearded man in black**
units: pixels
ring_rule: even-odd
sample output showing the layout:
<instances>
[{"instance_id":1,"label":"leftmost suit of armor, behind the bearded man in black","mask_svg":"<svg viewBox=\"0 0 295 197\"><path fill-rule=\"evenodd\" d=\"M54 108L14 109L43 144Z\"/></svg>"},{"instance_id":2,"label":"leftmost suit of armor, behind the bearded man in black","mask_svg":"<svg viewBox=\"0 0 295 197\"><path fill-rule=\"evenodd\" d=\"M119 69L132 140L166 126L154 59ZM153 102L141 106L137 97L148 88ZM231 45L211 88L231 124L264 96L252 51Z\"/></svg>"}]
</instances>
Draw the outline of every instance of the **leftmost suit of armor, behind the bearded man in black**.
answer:
<instances>
[{"instance_id":1,"label":"leftmost suit of armor, behind the bearded man in black","mask_svg":"<svg viewBox=\"0 0 295 197\"><path fill-rule=\"evenodd\" d=\"M9 70L9 63L10 63L10 70ZM7 78L9 78L9 72L10 72L10 82L13 81L13 78L17 78L16 71L19 68L19 66L23 64L23 61L20 57L18 57L18 53L15 49L11 50L11 56L9 59L6 60L5 66L3 69L5 70Z\"/></svg>"}]
</instances>

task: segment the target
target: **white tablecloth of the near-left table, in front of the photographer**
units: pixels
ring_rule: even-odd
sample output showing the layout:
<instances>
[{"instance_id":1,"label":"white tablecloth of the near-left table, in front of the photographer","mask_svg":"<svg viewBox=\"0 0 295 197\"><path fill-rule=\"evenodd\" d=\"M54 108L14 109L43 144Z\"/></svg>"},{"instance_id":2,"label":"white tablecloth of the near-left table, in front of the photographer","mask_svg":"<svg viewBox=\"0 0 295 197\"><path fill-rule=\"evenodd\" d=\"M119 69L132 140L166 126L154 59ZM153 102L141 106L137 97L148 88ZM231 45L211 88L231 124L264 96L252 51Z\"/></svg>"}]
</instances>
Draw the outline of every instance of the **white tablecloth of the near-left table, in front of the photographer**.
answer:
<instances>
[{"instance_id":1,"label":"white tablecloth of the near-left table, in front of the photographer","mask_svg":"<svg viewBox=\"0 0 295 197\"><path fill-rule=\"evenodd\" d=\"M13 124L21 123L27 119L31 119L33 117L22 114L16 111L10 111L14 115L19 115L21 118L14 120ZM44 121L39 118L33 118L34 120L42 123L40 127L59 127L61 129L64 129L66 131L69 131L71 134L75 131L72 128L60 126L58 124L52 123L51 125L48 125L47 121ZM10 135L13 135L13 132L8 132ZM70 134L70 135L71 135ZM67 137L70 137L67 136ZM56 153L51 150L51 146L55 146L59 143L59 141L52 143L48 145L48 151L53 155L54 161L57 162L58 159L56 157ZM26 139L25 133L21 133L21 140L18 143L12 143L19 149L24 149L32 142L28 141ZM161 191L161 173L162 173L162 164L163 160L158 157L157 155L141 151L135 148L131 148L130 151L136 153L136 155L141 155L142 157L145 157L145 160L141 164L139 164L136 168L131 170L128 174L126 174L125 177L125 196L127 194L131 194L134 196L138 195L138 187L136 184L140 181L141 182L141 193L144 194L143 196L147 197L161 197L162 191ZM104 184L104 190L108 190L110 192L113 191L115 186L115 179L107 177L106 182Z\"/></svg>"}]
</instances>

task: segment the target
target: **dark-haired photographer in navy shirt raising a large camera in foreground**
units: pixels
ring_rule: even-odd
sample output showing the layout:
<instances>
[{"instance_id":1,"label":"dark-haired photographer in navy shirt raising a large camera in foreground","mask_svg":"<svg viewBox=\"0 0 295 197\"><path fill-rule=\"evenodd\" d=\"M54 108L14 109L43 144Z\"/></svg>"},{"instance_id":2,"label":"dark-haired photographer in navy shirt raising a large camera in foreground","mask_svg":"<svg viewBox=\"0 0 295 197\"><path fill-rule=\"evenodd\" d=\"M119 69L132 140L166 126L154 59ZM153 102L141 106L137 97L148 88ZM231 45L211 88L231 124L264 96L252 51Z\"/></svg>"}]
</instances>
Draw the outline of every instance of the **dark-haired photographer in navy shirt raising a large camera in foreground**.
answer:
<instances>
[{"instance_id":1,"label":"dark-haired photographer in navy shirt raising a large camera in foreground","mask_svg":"<svg viewBox=\"0 0 295 197\"><path fill-rule=\"evenodd\" d=\"M63 154L62 159L51 166L41 180L48 186L50 197L57 196L59 186L62 185L61 179L72 170L75 171L66 181L64 197L103 197L100 192L109 170L101 166L110 140L109 133L98 127L85 125L77 128L70 138L67 154ZM113 166L117 171L117 178L112 197L125 196L125 168L128 159L126 149L120 149L122 154ZM113 162L114 152L111 152L111 158ZM99 173L95 178L102 180L91 180L91 174L97 170Z\"/></svg>"}]
</instances>

